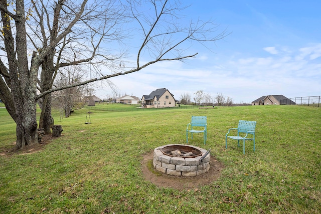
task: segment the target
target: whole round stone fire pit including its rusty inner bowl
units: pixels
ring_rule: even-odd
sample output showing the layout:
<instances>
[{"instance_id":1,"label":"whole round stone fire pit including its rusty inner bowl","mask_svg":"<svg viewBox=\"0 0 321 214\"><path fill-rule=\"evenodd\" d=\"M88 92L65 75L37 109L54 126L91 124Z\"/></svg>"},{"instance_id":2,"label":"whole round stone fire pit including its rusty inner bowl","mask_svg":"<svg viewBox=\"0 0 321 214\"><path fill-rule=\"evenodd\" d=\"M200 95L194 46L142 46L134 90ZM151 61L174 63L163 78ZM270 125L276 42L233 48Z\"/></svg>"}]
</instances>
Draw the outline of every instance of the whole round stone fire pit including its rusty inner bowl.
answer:
<instances>
[{"instance_id":1,"label":"whole round stone fire pit including its rusty inner bowl","mask_svg":"<svg viewBox=\"0 0 321 214\"><path fill-rule=\"evenodd\" d=\"M197 176L210 170L210 153L192 145L169 144L154 149L153 166L157 171L177 176ZM202 159L202 160L201 160Z\"/></svg>"}]
</instances>

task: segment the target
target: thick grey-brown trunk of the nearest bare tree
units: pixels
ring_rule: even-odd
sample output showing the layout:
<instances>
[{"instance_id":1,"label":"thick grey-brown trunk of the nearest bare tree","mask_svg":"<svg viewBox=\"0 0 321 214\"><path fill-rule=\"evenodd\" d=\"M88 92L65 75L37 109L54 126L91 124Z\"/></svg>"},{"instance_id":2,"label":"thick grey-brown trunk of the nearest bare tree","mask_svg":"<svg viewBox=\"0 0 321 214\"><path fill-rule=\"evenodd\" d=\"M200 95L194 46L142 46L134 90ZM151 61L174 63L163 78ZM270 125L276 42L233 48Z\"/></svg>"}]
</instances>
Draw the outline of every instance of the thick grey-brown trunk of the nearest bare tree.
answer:
<instances>
[{"instance_id":1,"label":"thick grey-brown trunk of the nearest bare tree","mask_svg":"<svg viewBox=\"0 0 321 214\"><path fill-rule=\"evenodd\" d=\"M39 65L32 60L29 70L28 54L27 54L27 38L25 26L25 7L24 2L19 0L16 2L17 14L16 23L16 47L17 53L8 54L9 62L17 62L15 67L9 67L12 83L12 93L16 107L17 115L17 143L18 149L25 146L38 143L37 137L37 117L36 117L36 100L37 95L37 74ZM6 47L8 51L8 48ZM13 49L15 50L15 49ZM16 60L17 54L17 60ZM33 56L34 57L34 56ZM17 73L16 73L17 72Z\"/></svg>"}]
</instances>

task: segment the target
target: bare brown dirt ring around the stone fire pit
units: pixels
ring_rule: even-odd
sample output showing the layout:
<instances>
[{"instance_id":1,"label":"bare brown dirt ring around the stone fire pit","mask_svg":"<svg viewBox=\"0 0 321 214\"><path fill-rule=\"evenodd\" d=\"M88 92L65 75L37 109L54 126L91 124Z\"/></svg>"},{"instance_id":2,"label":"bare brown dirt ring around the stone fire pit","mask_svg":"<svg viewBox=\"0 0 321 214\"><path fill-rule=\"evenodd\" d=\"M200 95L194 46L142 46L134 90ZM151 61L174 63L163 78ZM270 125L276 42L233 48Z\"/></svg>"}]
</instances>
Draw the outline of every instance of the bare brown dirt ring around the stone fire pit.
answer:
<instances>
[{"instance_id":1,"label":"bare brown dirt ring around the stone fire pit","mask_svg":"<svg viewBox=\"0 0 321 214\"><path fill-rule=\"evenodd\" d=\"M155 170L152 164L152 159L153 151L145 154L141 163L141 170L145 180L149 180L159 187L189 189L209 185L221 176L221 171L224 168L223 163L211 156L210 170L207 173L195 177L174 176Z\"/></svg>"}]
</instances>

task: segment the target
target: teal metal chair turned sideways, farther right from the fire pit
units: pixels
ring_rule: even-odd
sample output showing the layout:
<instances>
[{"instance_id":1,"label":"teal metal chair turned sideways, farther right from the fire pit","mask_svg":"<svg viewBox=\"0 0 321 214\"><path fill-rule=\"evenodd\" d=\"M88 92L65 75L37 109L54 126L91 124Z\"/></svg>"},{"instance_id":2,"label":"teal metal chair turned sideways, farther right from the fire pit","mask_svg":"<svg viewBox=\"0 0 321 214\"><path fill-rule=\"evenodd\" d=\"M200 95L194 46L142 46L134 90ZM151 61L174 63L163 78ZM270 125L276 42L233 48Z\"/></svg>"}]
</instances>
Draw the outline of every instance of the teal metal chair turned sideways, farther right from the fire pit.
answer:
<instances>
[{"instance_id":1,"label":"teal metal chair turned sideways, farther right from the fire pit","mask_svg":"<svg viewBox=\"0 0 321 214\"><path fill-rule=\"evenodd\" d=\"M255 151L255 125L256 121L240 120L237 128L231 128L225 134L225 148L227 149L227 138L237 140L237 146L240 146L240 140L243 140L243 154L245 154L245 140L253 140L253 151ZM237 136L228 135L231 130L237 130ZM236 133L236 131L231 133L233 132ZM243 134L240 135L240 133Z\"/></svg>"}]
</instances>

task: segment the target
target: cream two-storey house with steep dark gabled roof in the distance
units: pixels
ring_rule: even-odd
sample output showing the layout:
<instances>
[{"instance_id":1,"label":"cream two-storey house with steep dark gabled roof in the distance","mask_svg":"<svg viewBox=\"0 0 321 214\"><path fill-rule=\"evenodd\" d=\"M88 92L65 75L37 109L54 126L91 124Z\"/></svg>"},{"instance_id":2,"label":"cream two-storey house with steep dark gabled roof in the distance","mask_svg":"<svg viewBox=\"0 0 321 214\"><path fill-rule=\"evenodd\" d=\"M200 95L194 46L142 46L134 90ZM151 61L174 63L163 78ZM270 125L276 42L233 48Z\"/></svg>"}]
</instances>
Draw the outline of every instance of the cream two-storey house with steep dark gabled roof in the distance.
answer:
<instances>
[{"instance_id":1,"label":"cream two-storey house with steep dark gabled roof in the distance","mask_svg":"<svg viewBox=\"0 0 321 214\"><path fill-rule=\"evenodd\" d=\"M156 89L149 95L143 95L141 98L141 104L144 108L175 107L176 102L178 100L166 88Z\"/></svg>"}]
</instances>

